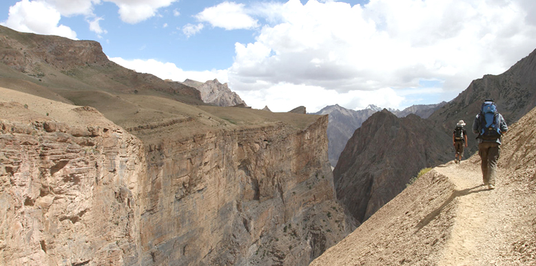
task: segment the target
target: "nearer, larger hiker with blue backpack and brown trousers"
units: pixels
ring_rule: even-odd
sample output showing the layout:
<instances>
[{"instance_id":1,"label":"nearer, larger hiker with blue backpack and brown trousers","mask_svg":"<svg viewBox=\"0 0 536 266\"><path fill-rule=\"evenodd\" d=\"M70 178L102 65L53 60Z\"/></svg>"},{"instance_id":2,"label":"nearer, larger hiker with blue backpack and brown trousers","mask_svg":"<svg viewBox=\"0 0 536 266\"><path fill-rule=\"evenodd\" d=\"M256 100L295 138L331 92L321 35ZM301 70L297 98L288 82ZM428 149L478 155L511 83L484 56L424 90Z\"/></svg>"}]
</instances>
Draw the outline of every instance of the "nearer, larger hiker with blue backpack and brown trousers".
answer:
<instances>
[{"instance_id":1,"label":"nearer, larger hiker with blue backpack and brown trousers","mask_svg":"<svg viewBox=\"0 0 536 266\"><path fill-rule=\"evenodd\" d=\"M495 188L497 160L501 154L501 137L508 131L502 115L497 112L493 99L484 100L480 113L473 122L473 133L478 134L478 155L482 160L482 179L488 189Z\"/></svg>"}]
</instances>

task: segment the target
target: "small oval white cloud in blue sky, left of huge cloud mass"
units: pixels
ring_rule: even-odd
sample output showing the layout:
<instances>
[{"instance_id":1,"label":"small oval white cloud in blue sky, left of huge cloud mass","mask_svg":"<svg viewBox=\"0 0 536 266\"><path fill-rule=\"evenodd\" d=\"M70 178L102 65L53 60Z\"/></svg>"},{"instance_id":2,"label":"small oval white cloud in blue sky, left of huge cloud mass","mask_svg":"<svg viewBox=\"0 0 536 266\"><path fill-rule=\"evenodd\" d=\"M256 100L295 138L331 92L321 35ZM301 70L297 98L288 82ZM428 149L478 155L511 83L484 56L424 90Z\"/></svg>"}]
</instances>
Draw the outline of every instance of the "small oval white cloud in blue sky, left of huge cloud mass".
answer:
<instances>
[{"instance_id":1,"label":"small oval white cloud in blue sky, left of huge cloud mass","mask_svg":"<svg viewBox=\"0 0 536 266\"><path fill-rule=\"evenodd\" d=\"M258 21L253 19L242 3L223 2L219 5L205 8L196 18L208 22L213 27L223 27L225 30L254 29L259 27Z\"/></svg>"}]
</instances>

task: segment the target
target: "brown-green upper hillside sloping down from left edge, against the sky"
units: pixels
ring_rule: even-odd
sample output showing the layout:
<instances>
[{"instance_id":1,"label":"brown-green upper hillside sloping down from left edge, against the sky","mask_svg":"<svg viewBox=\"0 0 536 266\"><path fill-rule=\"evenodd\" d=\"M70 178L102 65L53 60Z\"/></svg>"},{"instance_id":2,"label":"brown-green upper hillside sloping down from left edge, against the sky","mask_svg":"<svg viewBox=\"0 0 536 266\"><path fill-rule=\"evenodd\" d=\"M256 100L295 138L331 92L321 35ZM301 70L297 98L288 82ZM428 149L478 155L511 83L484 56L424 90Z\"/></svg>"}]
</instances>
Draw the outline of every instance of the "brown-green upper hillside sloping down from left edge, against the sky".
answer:
<instances>
[{"instance_id":1,"label":"brown-green upper hillside sloping down from left edge, against the sky","mask_svg":"<svg viewBox=\"0 0 536 266\"><path fill-rule=\"evenodd\" d=\"M76 103L82 94L91 96L99 91L164 96L203 104L199 91L192 87L113 63L95 41L21 33L0 26L0 63L0 86L18 86L24 80L34 84L27 92L46 98L61 95L58 90L76 91L76 96L68 97Z\"/></svg>"}]
</instances>

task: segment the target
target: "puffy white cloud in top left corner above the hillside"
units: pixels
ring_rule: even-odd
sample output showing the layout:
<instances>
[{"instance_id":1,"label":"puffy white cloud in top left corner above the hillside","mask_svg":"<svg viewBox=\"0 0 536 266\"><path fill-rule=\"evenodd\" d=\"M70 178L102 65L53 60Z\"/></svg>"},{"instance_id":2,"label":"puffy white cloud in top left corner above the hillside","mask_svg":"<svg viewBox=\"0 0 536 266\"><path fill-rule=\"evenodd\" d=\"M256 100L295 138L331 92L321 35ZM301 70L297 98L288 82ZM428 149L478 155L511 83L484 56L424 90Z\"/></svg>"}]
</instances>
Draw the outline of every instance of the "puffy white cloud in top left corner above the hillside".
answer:
<instances>
[{"instance_id":1,"label":"puffy white cloud in top left corner above the hillside","mask_svg":"<svg viewBox=\"0 0 536 266\"><path fill-rule=\"evenodd\" d=\"M60 19L60 12L48 3L22 0L10 7L8 20L0 24L19 32L34 32L76 39L76 32L70 27L58 25Z\"/></svg>"}]
</instances>

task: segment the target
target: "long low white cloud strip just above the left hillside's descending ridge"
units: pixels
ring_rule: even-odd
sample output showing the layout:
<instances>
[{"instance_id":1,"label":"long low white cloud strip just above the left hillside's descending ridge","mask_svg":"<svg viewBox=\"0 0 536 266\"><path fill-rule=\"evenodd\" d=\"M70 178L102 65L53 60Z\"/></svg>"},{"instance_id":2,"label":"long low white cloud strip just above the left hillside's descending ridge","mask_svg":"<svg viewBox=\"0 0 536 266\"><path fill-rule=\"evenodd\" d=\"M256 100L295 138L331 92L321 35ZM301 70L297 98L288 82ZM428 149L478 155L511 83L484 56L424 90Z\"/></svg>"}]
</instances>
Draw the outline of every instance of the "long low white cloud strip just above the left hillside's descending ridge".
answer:
<instances>
[{"instance_id":1,"label":"long low white cloud strip just above the left hillside's descending ridge","mask_svg":"<svg viewBox=\"0 0 536 266\"><path fill-rule=\"evenodd\" d=\"M205 82L207 80L214 80L214 78L218 78L218 81L222 83L228 81L227 70L185 71L177 67L174 63L164 63L154 59L125 60L123 58L114 57L110 58L110 60L128 69L133 69L134 71L140 73L150 73L162 79L183 82L189 78L191 80Z\"/></svg>"}]
</instances>

